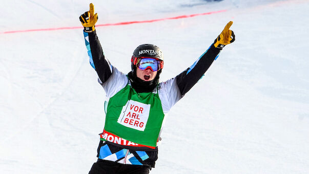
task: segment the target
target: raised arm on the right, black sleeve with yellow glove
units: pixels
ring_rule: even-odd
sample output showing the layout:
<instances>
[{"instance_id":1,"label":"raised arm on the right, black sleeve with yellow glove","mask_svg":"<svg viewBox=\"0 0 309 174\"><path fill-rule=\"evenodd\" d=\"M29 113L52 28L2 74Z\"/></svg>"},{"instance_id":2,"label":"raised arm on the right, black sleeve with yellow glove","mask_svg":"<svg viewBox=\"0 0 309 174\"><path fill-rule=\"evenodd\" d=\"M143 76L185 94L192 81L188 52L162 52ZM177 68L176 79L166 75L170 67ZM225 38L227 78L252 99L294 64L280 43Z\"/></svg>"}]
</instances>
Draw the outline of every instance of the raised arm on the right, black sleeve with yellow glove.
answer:
<instances>
[{"instance_id":1,"label":"raised arm on the right, black sleeve with yellow glove","mask_svg":"<svg viewBox=\"0 0 309 174\"><path fill-rule=\"evenodd\" d=\"M232 24L233 22L230 21L224 27L221 34L216 38L214 44L212 44L191 67L176 76L176 82L181 96L186 94L198 82L198 80L202 78L203 74L218 56L220 50L222 50L225 45L235 41L234 32L230 30Z\"/></svg>"}]
</instances>

